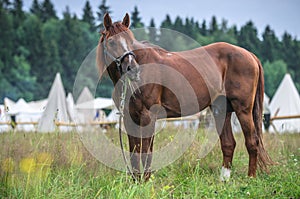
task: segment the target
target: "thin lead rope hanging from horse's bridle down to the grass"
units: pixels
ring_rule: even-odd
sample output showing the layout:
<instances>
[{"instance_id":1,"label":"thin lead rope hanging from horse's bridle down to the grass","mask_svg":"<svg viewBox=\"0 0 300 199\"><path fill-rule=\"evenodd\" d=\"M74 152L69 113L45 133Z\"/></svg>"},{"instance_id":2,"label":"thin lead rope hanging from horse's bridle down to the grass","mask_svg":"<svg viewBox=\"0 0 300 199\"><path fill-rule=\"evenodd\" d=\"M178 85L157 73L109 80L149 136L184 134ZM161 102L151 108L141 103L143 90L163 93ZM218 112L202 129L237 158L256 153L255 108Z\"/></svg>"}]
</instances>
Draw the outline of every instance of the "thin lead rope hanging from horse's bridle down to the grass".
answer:
<instances>
[{"instance_id":1,"label":"thin lead rope hanging from horse's bridle down to the grass","mask_svg":"<svg viewBox=\"0 0 300 199\"><path fill-rule=\"evenodd\" d=\"M128 77L125 77L125 80L123 81L122 85L122 94L121 94L121 102L120 102L120 117L119 117L119 138L120 138L120 146L122 151L122 156L124 163L126 165L127 171L130 173L131 177L137 181L136 177L134 176L133 172L131 171L127 158L125 156L124 146L123 146L123 139L122 139L122 119L124 118L124 106L125 106L125 98L126 98L126 92L127 92L127 84L130 84L130 79Z\"/></svg>"}]
</instances>

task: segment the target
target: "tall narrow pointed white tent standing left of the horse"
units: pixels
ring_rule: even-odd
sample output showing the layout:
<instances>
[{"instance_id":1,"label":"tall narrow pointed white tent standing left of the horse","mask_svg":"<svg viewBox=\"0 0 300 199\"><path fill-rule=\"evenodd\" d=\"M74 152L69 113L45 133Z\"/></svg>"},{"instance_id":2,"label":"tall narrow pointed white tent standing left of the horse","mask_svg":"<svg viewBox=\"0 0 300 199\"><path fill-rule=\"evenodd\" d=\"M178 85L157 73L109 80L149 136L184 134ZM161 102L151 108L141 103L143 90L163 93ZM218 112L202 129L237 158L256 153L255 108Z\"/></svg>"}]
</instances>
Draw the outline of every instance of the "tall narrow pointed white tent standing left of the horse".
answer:
<instances>
[{"instance_id":1,"label":"tall narrow pointed white tent standing left of the horse","mask_svg":"<svg viewBox=\"0 0 300 199\"><path fill-rule=\"evenodd\" d=\"M48 103L38 124L38 132L53 132L56 128L55 121L69 122L67 113L66 94L57 73L48 95ZM68 128L60 128L66 130Z\"/></svg>"}]
</instances>

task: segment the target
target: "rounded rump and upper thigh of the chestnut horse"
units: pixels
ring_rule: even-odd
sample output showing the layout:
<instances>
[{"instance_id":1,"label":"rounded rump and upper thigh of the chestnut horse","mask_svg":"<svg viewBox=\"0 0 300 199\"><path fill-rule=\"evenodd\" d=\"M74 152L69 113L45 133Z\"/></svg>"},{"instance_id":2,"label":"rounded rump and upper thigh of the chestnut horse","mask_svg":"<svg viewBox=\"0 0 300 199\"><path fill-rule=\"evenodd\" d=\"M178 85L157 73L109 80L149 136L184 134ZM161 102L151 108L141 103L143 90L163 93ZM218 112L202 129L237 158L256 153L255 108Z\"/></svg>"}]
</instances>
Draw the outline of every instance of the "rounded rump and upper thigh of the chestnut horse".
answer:
<instances>
[{"instance_id":1,"label":"rounded rump and upper thigh of the chestnut horse","mask_svg":"<svg viewBox=\"0 0 300 199\"><path fill-rule=\"evenodd\" d=\"M230 99L254 99L260 64L248 50L225 42L204 47L222 73L223 89Z\"/></svg>"}]
</instances>

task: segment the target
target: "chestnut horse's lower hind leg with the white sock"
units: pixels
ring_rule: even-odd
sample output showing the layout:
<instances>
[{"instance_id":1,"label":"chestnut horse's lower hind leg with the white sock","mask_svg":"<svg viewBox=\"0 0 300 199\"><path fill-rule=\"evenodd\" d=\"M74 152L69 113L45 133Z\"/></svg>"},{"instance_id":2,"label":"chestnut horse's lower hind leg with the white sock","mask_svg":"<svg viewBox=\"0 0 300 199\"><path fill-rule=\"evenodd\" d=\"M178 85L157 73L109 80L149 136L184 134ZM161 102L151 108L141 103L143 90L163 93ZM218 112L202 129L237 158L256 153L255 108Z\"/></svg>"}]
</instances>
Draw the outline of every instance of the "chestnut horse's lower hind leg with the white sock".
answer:
<instances>
[{"instance_id":1,"label":"chestnut horse's lower hind leg with the white sock","mask_svg":"<svg viewBox=\"0 0 300 199\"><path fill-rule=\"evenodd\" d=\"M226 113L225 118L224 116L215 116L215 121L217 131L220 136L221 149L223 153L223 163L220 179L222 181L227 181L230 178L230 169L236 145L234 136L232 134L231 113Z\"/></svg>"}]
</instances>

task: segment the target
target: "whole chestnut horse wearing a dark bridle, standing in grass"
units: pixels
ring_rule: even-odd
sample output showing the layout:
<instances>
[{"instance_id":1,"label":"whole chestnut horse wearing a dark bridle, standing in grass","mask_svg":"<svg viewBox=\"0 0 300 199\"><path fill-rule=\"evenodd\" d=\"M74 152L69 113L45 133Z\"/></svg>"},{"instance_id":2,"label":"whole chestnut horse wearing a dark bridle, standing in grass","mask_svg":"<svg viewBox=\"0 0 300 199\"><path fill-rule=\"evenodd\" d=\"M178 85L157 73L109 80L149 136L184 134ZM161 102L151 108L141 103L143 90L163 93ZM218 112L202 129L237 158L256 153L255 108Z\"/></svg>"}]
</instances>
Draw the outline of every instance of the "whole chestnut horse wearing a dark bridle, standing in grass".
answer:
<instances>
[{"instance_id":1,"label":"whole chestnut horse wearing a dark bridle, standing in grass","mask_svg":"<svg viewBox=\"0 0 300 199\"><path fill-rule=\"evenodd\" d=\"M144 179L149 179L151 175L156 119L191 115L206 107L210 107L214 113L220 136L223 153L221 178L226 180L230 176L236 145L230 122L232 112L236 113L245 137L249 154L248 175L256 176L257 165L268 171L267 166L273 162L262 142L264 77L259 59L243 48L224 42L185 52L168 52L137 41L129 25L128 14L122 22L115 23L112 23L109 14L105 14L105 30L97 48L97 65L100 75L106 70L114 83L113 98L117 107L120 107L122 95L122 83L118 83L120 79L127 75L133 83L148 82L136 89L133 95L127 93L128 106L124 108L124 124L134 175L138 178L141 176L140 162ZM193 56L187 61L184 57L189 55ZM187 89L180 78L172 77L158 65L167 65L177 71L192 89ZM181 94L175 94L163 83L175 85ZM196 103L191 100L193 95ZM222 99L225 99L225 109L219 108L218 101ZM185 107L184 113L182 107ZM223 113L223 118L220 113ZM130 120L135 125L130 124Z\"/></svg>"}]
</instances>

